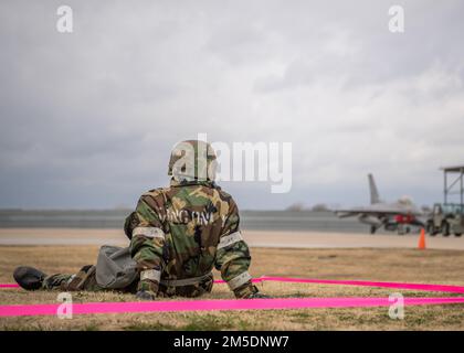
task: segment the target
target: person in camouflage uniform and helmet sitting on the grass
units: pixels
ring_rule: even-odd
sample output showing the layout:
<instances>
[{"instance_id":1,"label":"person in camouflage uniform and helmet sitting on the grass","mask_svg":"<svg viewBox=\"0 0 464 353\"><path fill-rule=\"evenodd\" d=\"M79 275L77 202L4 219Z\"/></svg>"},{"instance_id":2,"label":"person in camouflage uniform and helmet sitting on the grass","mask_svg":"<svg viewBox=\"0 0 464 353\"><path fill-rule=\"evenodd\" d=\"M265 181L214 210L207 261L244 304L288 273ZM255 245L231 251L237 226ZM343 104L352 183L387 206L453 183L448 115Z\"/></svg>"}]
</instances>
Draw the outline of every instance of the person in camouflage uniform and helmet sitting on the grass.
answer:
<instances>
[{"instance_id":1,"label":"person in camouflage uniform and helmet sitting on the grass","mask_svg":"<svg viewBox=\"0 0 464 353\"><path fill-rule=\"evenodd\" d=\"M126 218L124 231L139 277L125 290L140 299L198 297L211 291L215 267L236 298L265 297L251 282L239 210L214 183L215 168L215 153L207 142L189 140L173 148L170 185L143 194ZM85 266L75 276L35 275L42 277L41 288L102 289L95 266Z\"/></svg>"}]
</instances>

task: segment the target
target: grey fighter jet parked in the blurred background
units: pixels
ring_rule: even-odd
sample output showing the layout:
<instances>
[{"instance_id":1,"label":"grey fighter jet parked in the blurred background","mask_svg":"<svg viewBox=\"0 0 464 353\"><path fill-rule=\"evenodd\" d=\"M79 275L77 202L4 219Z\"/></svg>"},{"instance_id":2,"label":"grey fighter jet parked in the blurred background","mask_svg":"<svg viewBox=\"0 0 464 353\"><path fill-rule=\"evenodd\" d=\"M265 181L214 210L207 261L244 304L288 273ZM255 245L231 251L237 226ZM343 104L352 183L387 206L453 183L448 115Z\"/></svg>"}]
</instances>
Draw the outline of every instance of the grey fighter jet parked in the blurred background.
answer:
<instances>
[{"instance_id":1,"label":"grey fighter jet parked in the blurred background","mask_svg":"<svg viewBox=\"0 0 464 353\"><path fill-rule=\"evenodd\" d=\"M340 217L357 217L359 222L370 226L370 233L375 234L382 226L386 231L398 234L409 233L411 226L423 227L424 223L418 217L422 212L408 197L401 197L394 203L386 203L380 200L372 174L368 174L370 190L370 205L347 210L335 210Z\"/></svg>"}]
</instances>

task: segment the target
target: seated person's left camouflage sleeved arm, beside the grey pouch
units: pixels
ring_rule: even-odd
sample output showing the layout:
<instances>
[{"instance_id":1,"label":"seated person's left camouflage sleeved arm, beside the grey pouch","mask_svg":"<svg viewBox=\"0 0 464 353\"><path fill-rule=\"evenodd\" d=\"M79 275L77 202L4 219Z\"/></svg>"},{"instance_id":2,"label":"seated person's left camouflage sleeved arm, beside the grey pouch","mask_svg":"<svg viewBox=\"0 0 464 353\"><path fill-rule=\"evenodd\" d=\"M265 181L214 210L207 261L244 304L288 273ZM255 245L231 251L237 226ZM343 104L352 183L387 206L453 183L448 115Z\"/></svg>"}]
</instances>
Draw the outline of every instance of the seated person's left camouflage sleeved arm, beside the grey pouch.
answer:
<instances>
[{"instance_id":1,"label":"seated person's left camouflage sleeved arm, beside the grey pouch","mask_svg":"<svg viewBox=\"0 0 464 353\"><path fill-rule=\"evenodd\" d=\"M136 211L126 221L126 232L130 233L130 255L137 263L140 281L137 287L137 297L155 299L161 272L165 267L164 248L165 232L157 210L162 207L161 194L144 194L137 204ZM127 226L128 225L128 226Z\"/></svg>"}]
</instances>

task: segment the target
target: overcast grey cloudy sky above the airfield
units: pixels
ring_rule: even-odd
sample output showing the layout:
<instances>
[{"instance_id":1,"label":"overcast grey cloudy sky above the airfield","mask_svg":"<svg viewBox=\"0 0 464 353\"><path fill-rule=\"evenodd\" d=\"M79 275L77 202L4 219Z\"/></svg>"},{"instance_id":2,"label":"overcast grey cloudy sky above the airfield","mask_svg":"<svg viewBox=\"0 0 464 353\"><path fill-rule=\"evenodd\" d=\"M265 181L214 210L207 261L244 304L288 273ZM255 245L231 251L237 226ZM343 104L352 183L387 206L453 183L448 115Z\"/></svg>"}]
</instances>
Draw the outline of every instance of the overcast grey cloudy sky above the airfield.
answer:
<instances>
[{"instance_id":1,"label":"overcast grey cloudy sky above the airfield","mask_svg":"<svg viewBox=\"0 0 464 353\"><path fill-rule=\"evenodd\" d=\"M74 32L56 31L73 9ZM405 32L388 30L401 4ZM463 1L1 1L0 207L134 206L176 141L292 142L241 208L442 200L464 163Z\"/></svg>"}]
</instances>

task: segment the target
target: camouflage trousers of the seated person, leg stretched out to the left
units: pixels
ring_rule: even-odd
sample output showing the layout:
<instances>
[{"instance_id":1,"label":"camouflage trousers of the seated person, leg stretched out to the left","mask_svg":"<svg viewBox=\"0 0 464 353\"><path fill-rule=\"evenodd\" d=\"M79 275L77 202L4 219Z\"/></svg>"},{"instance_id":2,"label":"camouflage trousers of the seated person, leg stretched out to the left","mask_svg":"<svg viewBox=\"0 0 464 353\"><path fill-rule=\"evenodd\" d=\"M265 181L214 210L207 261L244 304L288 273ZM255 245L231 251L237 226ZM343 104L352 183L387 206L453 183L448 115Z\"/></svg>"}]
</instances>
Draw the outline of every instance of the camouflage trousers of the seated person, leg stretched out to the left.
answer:
<instances>
[{"instance_id":1,"label":"camouflage trousers of the seated person, leg stretched out to the left","mask_svg":"<svg viewBox=\"0 0 464 353\"><path fill-rule=\"evenodd\" d=\"M139 280L136 279L126 288L118 289L119 292L137 292L137 285ZM213 286L213 277L208 277L199 284L181 287L167 287L159 285L158 297L200 297L204 293L211 292ZM87 265L81 268L75 275L55 274L48 276L42 284L42 289L59 289L63 291L101 291L108 290L98 286L96 281L95 266Z\"/></svg>"}]
</instances>

